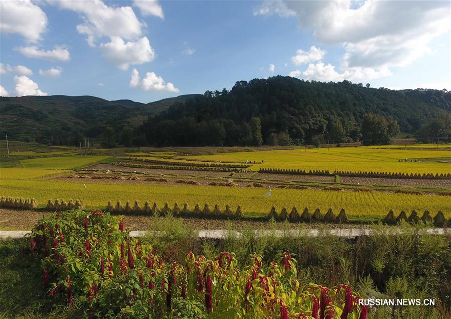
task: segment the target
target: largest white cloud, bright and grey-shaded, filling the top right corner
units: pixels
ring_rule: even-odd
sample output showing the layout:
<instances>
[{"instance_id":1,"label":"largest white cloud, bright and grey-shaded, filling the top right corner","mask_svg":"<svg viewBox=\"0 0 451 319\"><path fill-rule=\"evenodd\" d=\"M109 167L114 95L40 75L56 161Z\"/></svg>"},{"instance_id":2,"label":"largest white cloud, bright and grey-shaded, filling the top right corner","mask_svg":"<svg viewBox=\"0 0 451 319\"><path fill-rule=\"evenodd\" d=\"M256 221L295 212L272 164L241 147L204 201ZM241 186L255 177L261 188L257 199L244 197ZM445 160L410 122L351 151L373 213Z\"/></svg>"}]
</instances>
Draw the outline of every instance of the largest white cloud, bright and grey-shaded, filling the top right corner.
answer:
<instances>
[{"instance_id":1,"label":"largest white cloud, bright and grey-shaded, filling the top right corner","mask_svg":"<svg viewBox=\"0 0 451 319\"><path fill-rule=\"evenodd\" d=\"M446 1L287 1L264 3L256 14L286 17L287 12L319 42L345 47L342 69L408 65L450 29Z\"/></svg>"}]
</instances>

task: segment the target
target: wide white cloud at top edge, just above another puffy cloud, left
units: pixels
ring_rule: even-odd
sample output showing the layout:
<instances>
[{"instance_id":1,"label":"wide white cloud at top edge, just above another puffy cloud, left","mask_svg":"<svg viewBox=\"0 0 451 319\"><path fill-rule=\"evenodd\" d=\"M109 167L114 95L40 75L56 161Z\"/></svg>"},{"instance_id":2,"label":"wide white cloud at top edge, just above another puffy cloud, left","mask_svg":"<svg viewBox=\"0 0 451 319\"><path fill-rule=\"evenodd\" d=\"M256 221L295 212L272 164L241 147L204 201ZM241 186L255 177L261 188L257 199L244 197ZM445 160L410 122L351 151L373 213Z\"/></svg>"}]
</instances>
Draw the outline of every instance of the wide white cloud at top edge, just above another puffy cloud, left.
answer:
<instances>
[{"instance_id":1,"label":"wide white cloud at top edge, just above another puffy cloud, left","mask_svg":"<svg viewBox=\"0 0 451 319\"><path fill-rule=\"evenodd\" d=\"M90 46L101 37L120 37L127 40L137 39L142 35L140 22L131 7L108 7L100 0L93 1L59 1L60 8L79 13L84 21L77 26L80 34L87 36Z\"/></svg>"}]
</instances>

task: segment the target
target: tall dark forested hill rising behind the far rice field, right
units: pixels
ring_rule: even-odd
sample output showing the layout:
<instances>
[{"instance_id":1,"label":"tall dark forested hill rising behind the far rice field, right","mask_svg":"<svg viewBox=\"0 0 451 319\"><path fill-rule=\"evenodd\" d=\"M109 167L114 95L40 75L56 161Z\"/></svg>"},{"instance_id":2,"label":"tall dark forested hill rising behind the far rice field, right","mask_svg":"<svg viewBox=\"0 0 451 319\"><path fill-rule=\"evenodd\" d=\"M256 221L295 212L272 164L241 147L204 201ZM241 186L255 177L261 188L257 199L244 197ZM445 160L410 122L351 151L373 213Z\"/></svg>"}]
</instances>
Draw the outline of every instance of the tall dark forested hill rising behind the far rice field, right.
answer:
<instances>
[{"instance_id":1,"label":"tall dark forested hill rising behind the far rice field, right","mask_svg":"<svg viewBox=\"0 0 451 319\"><path fill-rule=\"evenodd\" d=\"M251 119L259 118L264 143L274 134L283 134L283 139L289 135L290 143L298 144L327 140L338 119L345 130L344 140L350 141L360 138L367 113L392 116L406 133L451 114L451 92L367 86L289 76L239 81L230 91L207 91L174 103L167 111L149 117L136 134L145 133L148 143L159 145L249 145Z\"/></svg>"}]
</instances>

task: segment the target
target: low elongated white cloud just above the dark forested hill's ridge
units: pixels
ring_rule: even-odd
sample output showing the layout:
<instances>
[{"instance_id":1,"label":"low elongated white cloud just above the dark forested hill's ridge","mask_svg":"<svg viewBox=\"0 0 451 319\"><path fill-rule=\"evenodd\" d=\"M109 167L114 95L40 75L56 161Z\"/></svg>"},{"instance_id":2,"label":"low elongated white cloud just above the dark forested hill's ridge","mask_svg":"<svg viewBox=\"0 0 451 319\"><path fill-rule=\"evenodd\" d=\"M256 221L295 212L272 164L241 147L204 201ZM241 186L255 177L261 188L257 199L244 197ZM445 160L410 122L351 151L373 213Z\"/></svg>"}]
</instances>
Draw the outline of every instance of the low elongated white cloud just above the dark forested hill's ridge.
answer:
<instances>
[{"instance_id":1,"label":"low elongated white cloud just above the dark forested hill's ridge","mask_svg":"<svg viewBox=\"0 0 451 319\"><path fill-rule=\"evenodd\" d=\"M300 75L299 70L292 71L291 73L296 76ZM291 73L290 76L293 76ZM346 69L343 73L339 73L332 64L318 62L317 64L310 63L307 70L302 72L302 75L306 80L316 80L321 82L337 82L345 79L359 82L386 77L392 74L387 67L382 67L380 69L353 67Z\"/></svg>"}]
</instances>

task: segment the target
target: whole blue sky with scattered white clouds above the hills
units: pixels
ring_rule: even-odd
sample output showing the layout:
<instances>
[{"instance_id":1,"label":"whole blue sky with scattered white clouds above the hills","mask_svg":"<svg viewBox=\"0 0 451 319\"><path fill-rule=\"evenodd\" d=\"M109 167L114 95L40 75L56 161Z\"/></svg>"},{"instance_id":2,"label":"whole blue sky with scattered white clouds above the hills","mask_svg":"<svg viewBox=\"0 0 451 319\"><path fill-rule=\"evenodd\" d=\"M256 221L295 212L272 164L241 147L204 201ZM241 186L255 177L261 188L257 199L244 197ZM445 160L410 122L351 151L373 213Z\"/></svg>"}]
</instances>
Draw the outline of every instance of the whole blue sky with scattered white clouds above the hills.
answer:
<instances>
[{"instance_id":1,"label":"whole blue sky with scattered white clouds above the hills","mask_svg":"<svg viewBox=\"0 0 451 319\"><path fill-rule=\"evenodd\" d=\"M0 2L1 95L150 102L277 74L451 90L449 2Z\"/></svg>"}]
</instances>

